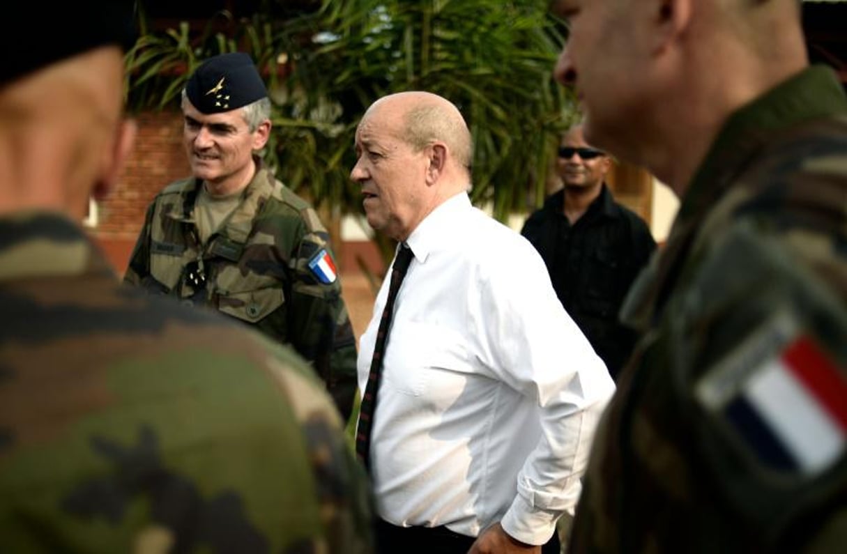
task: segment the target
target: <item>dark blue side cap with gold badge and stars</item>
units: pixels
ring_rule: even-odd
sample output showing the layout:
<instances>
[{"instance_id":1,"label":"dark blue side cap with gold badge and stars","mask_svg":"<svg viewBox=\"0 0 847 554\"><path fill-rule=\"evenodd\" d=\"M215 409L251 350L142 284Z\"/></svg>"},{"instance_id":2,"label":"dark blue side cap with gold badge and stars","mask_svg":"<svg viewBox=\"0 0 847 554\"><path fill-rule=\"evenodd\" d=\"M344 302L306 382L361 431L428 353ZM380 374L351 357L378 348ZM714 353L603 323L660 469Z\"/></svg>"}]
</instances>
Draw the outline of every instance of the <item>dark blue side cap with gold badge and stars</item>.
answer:
<instances>
[{"instance_id":1,"label":"dark blue side cap with gold badge and stars","mask_svg":"<svg viewBox=\"0 0 847 554\"><path fill-rule=\"evenodd\" d=\"M268 96L256 64L242 52L208 58L191 75L185 93L203 114L229 112Z\"/></svg>"}]
</instances>

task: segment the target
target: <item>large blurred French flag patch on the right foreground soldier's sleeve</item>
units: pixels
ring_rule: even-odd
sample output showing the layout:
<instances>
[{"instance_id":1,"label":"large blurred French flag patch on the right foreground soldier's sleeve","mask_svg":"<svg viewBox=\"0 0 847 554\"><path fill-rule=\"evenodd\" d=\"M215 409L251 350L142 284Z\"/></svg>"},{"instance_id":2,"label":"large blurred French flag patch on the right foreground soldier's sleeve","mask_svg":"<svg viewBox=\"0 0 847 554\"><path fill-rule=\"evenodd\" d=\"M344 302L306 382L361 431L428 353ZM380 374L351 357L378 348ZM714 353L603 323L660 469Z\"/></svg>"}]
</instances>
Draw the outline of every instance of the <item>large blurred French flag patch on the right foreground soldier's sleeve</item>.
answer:
<instances>
[{"instance_id":1,"label":"large blurred French flag patch on the right foreground soldier's sleeve","mask_svg":"<svg viewBox=\"0 0 847 554\"><path fill-rule=\"evenodd\" d=\"M765 466L818 474L847 446L847 371L814 337L785 325L745 341L695 394Z\"/></svg>"}]
</instances>

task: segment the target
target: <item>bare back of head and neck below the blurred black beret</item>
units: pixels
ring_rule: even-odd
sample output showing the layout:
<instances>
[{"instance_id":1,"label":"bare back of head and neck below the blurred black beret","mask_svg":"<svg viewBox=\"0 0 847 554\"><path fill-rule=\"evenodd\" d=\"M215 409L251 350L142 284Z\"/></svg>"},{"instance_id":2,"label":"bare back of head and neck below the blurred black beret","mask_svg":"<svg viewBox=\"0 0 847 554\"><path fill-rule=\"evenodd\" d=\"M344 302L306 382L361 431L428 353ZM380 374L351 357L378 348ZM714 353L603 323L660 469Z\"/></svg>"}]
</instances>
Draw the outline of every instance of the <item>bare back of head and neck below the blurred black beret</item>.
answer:
<instances>
[{"instance_id":1,"label":"bare back of head and neck below the blurred black beret","mask_svg":"<svg viewBox=\"0 0 847 554\"><path fill-rule=\"evenodd\" d=\"M0 88L0 213L81 219L117 182L135 126L123 114L124 58L95 47Z\"/></svg>"}]
</instances>

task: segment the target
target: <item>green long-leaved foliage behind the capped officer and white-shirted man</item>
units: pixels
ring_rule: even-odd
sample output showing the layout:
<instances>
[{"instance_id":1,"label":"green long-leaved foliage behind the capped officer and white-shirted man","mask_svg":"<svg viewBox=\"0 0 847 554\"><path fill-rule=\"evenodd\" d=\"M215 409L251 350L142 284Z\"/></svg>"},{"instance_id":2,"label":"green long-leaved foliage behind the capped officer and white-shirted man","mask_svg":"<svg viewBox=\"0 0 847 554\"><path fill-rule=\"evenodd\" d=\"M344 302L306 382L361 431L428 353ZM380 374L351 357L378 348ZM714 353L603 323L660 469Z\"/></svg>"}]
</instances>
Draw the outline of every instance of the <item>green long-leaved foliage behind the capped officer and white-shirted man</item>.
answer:
<instances>
[{"instance_id":1,"label":"green long-leaved foliage behind the capped officer and white-shirted man","mask_svg":"<svg viewBox=\"0 0 847 554\"><path fill-rule=\"evenodd\" d=\"M552 80L564 38L547 0L321 0L280 19L283 4L225 32L209 21L193 36L187 24L145 33L127 55L130 107L176 107L203 58L251 53L274 100L268 162L316 204L358 213L349 172L364 110L391 92L432 91L472 131L473 202L501 220L540 205L557 134L574 114Z\"/></svg>"}]
</instances>

